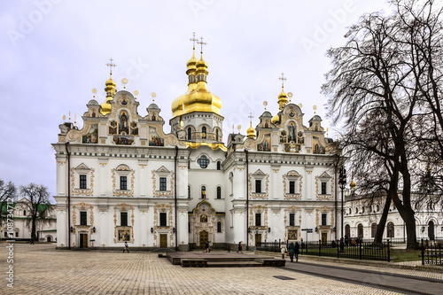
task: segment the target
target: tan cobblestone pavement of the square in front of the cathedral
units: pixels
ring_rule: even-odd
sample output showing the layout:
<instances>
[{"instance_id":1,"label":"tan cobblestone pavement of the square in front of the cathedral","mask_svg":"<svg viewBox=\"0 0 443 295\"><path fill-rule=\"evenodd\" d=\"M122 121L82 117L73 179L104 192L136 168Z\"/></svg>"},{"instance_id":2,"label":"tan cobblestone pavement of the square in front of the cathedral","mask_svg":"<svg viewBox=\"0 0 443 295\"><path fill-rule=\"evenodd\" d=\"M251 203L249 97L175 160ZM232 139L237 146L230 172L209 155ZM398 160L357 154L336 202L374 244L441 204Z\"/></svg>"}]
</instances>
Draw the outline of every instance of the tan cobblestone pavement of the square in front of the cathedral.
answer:
<instances>
[{"instance_id":1,"label":"tan cobblestone pavement of the square in front of the cathedral","mask_svg":"<svg viewBox=\"0 0 443 295\"><path fill-rule=\"evenodd\" d=\"M157 253L56 251L38 244L14 245L10 289L5 246L0 244L0 294L398 294L284 268L182 268Z\"/></svg>"}]
</instances>

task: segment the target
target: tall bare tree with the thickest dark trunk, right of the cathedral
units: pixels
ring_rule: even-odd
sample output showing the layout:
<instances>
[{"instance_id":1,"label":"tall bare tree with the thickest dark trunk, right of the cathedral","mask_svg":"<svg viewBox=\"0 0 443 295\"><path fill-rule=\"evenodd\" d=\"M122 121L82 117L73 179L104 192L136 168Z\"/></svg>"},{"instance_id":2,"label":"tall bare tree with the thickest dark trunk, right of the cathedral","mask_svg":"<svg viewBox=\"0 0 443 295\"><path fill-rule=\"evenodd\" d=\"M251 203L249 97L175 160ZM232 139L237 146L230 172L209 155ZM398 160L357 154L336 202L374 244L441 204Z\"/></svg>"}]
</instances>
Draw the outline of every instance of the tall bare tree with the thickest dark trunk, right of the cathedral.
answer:
<instances>
[{"instance_id":1,"label":"tall bare tree with the thickest dark trunk, right of the cathedral","mask_svg":"<svg viewBox=\"0 0 443 295\"><path fill-rule=\"evenodd\" d=\"M392 0L392 4L396 8L392 15L364 15L357 25L350 27L346 45L328 51L333 68L326 76L323 93L330 97L330 118L335 123L346 122L344 133L349 138L348 147L367 152L370 160L383 159L385 175L389 175L389 195L406 223L408 248L414 248L416 220L411 191L418 178L411 168L423 161L417 143L442 138L437 124L433 124L434 132L428 139L416 136L416 128L422 127L417 122L428 116L439 123L441 117L441 100L435 95L440 94L439 81L432 80L430 74L440 77L437 73L441 70L441 54L427 54L427 50L433 50L439 43L424 42L430 38L439 39L441 34L430 35L429 32L430 27L441 25L441 11L432 11L431 0ZM419 43L423 45L421 49L417 49ZM434 58L433 64L426 58ZM435 66L439 67L438 71ZM383 124L371 123L375 112L377 119L381 116ZM361 130L368 129L368 124L387 135L383 143L376 136L375 143L371 144L374 138L369 137L372 135L369 133L369 144L361 144ZM380 144L385 144L384 150ZM429 152L423 154L429 155Z\"/></svg>"}]
</instances>

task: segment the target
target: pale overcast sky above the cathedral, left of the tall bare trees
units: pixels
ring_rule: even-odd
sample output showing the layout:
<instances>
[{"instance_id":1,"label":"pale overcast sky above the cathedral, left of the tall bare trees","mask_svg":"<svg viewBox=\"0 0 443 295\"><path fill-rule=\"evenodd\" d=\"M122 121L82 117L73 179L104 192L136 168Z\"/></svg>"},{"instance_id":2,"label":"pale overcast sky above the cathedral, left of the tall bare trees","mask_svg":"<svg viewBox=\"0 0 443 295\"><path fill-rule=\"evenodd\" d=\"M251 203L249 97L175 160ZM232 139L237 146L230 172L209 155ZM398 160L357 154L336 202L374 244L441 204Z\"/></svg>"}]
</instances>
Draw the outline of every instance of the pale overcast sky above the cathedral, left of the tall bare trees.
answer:
<instances>
[{"instance_id":1,"label":"pale overcast sky above the cathedral, left of the tall bare trees","mask_svg":"<svg viewBox=\"0 0 443 295\"><path fill-rule=\"evenodd\" d=\"M363 13L390 10L385 0L4 1L0 179L44 184L55 193L51 144L58 140L58 124L71 112L82 128L93 88L98 103L105 101L109 58L117 65L117 89L128 78L128 91L139 91L140 115L157 94L169 133L171 104L187 89L192 32L207 43L208 88L221 98L225 139L232 124L246 133L250 112L255 126L263 101L276 114L282 72L292 103L303 105L305 126L317 105L323 127L331 130L320 92L330 70L325 52L346 42L346 27ZM336 137L333 131L329 136Z\"/></svg>"}]
</instances>

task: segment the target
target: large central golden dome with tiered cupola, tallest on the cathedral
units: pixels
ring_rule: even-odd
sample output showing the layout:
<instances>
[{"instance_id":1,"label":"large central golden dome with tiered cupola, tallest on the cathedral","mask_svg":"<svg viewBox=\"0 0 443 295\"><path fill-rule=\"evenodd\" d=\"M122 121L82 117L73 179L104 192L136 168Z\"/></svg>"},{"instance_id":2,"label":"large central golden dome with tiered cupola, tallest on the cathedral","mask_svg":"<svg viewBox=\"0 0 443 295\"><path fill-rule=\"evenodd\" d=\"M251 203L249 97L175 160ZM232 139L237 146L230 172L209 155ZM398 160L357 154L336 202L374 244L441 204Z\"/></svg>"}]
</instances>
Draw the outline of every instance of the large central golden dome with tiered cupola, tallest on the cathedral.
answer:
<instances>
[{"instance_id":1,"label":"large central golden dome with tiered cupola, tallest on the cathedral","mask_svg":"<svg viewBox=\"0 0 443 295\"><path fill-rule=\"evenodd\" d=\"M192 112L217 113L221 115L221 99L207 89L207 64L203 57L197 61L195 53L186 64L189 76L188 91L172 103L173 118Z\"/></svg>"}]
</instances>

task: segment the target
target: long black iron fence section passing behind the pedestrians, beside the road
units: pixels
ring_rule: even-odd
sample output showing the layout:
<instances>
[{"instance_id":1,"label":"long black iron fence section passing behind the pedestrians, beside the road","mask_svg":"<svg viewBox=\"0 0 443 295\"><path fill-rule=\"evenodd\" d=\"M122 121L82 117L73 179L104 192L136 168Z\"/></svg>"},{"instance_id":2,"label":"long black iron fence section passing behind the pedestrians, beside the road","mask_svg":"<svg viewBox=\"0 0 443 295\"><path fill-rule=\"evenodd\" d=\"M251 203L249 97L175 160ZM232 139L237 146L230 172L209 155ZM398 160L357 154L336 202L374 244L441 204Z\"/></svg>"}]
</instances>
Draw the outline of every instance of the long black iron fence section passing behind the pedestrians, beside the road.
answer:
<instances>
[{"instance_id":1,"label":"long black iron fence section passing behind the pedestrians, beside the road","mask_svg":"<svg viewBox=\"0 0 443 295\"><path fill-rule=\"evenodd\" d=\"M287 242L286 242L287 244ZM257 250L268 252L280 252L280 241L258 243ZM353 244L341 243L339 241L309 241L301 243L299 252L301 255L327 256L337 258L349 258L354 260L383 260L391 261L391 243L356 241Z\"/></svg>"}]
</instances>

